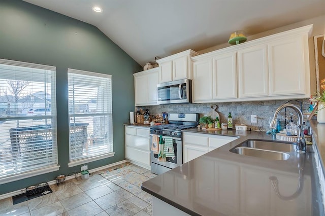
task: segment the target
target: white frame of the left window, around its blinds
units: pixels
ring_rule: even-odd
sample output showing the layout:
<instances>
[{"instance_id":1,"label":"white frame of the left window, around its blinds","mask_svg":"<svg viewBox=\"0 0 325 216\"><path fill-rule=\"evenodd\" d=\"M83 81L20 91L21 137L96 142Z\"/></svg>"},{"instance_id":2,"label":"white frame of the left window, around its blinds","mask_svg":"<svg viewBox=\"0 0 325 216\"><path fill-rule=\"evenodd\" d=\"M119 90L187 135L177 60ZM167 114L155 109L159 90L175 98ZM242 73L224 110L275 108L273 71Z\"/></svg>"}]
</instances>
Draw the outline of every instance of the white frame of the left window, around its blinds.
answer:
<instances>
[{"instance_id":1,"label":"white frame of the left window, around its blinds","mask_svg":"<svg viewBox=\"0 0 325 216\"><path fill-rule=\"evenodd\" d=\"M7 65L14 65L14 66L22 66L22 67L29 67L29 68L36 68L36 69L45 69L45 70L52 70L54 73L52 74L51 79L51 100L52 105L54 105L54 110L51 112L51 127L52 127L52 146L55 149L53 151L53 158L56 162L56 164L39 167L34 170L28 170L28 171L21 171L20 173L14 173L10 174L5 177L0 177L0 185L18 181L20 179L37 176L40 174L50 173L59 170L60 166L58 165L58 151L57 151L57 130L56 130L56 79L55 79L55 71L56 67L49 66L49 65L42 65L42 64L35 64L35 63L28 63L28 62L21 62L21 61L13 61L13 60L7 60L7 59L0 59L1 64L7 64ZM22 73L22 72L20 72ZM6 73L3 74L3 76L6 76L6 79L15 79L14 74ZM48 117L47 117L48 118ZM0 120L23 120L23 119L35 119L35 117L5 117L0 118ZM1 176L1 173L0 173Z\"/></svg>"}]
</instances>

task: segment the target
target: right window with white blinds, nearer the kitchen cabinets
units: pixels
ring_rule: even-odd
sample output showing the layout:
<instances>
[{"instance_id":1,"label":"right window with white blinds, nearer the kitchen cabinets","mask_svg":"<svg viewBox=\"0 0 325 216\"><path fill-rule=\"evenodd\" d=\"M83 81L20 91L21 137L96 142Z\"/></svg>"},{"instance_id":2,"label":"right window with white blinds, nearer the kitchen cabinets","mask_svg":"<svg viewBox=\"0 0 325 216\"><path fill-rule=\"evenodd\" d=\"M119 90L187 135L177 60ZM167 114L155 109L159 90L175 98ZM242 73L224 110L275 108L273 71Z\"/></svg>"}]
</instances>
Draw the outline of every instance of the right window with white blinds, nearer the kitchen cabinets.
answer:
<instances>
[{"instance_id":1,"label":"right window with white blinds, nearer the kitchen cabinets","mask_svg":"<svg viewBox=\"0 0 325 216\"><path fill-rule=\"evenodd\" d=\"M69 167L111 157L111 75L68 69L70 163Z\"/></svg>"}]
</instances>

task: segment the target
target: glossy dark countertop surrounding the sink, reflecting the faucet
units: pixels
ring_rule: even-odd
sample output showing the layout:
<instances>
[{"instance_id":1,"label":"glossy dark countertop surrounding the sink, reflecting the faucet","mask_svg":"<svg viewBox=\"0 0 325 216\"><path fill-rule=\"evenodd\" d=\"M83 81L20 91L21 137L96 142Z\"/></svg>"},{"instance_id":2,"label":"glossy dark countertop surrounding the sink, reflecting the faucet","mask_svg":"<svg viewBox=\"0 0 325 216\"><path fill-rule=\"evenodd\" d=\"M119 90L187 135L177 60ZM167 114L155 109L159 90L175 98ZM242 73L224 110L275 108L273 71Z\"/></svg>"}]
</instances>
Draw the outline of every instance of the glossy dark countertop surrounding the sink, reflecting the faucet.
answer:
<instances>
[{"instance_id":1,"label":"glossy dark countertop surrounding the sink, reflecting the faucet","mask_svg":"<svg viewBox=\"0 0 325 216\"><path fill-rule=\"evenodd\" d=\"M197 128L184 131L239 138L142 183L144 191L191 215L324 213L312 146L308 146L306 154L291 153L288 160L269 160L229 150L248 139L275 140L275 135ZM323 158L322 140L319 151Z\"/></svg>"}]
</instances>

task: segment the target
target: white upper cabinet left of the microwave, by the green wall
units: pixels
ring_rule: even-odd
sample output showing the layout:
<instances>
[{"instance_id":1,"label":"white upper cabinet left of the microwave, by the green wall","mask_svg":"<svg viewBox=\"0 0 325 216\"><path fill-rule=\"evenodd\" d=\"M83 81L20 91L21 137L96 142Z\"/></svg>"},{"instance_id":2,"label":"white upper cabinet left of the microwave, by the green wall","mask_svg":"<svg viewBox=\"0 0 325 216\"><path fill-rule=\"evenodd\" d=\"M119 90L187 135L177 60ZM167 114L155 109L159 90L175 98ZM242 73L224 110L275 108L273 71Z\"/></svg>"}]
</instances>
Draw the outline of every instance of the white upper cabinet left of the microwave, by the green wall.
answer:
<instances>
[{"instance_id":1,"label":"white upper cabinet left of the microwave, by the green wall","mask_svg":"<svg viewBox=\"0 0 325 216\"><path fill-rule=\"evenodd\" d=\"M141 71L134 75L135 105L158 105L157 84L158 67Z\"/></svg>"}]
</instances>

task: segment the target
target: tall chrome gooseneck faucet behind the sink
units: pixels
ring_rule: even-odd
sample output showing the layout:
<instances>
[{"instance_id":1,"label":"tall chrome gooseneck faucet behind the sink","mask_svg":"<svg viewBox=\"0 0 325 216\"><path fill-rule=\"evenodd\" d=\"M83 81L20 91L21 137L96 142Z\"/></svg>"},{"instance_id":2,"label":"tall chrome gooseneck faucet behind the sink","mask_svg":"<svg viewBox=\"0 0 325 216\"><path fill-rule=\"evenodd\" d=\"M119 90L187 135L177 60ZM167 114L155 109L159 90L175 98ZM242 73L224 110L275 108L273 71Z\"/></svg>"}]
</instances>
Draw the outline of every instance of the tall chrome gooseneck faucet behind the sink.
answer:
<instances>
[{"instance_id":1,"label":"tall chrome gooseneck faucet behind the sink","mask_svg":"<svg viewBox=\"0 0 325 216\"><path fill-rule=\"evenodd\" d=\"M273 119L272 119L269 127L272 129L276 129L278 115L281 112L281 110L283 110L285 107L289 107L289 108L293 109L298 114L297 125L298 125L299 129L298 129L298 137L297 137L297 152L306 153L306 140L305 140L304 133L303 133L303 113L298 108L298 106L291 104L291 103L285 103L285 104L280 105L278 107L278 109L275 111Z\"/></svg>"}]
</instances>

